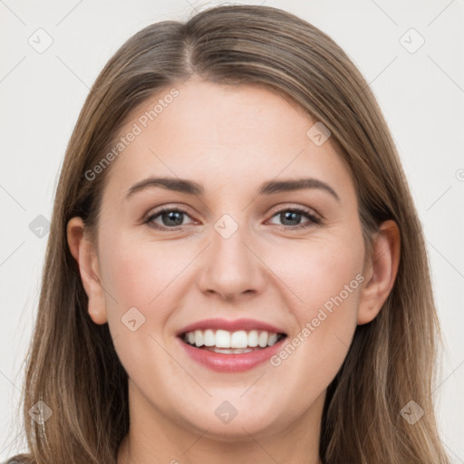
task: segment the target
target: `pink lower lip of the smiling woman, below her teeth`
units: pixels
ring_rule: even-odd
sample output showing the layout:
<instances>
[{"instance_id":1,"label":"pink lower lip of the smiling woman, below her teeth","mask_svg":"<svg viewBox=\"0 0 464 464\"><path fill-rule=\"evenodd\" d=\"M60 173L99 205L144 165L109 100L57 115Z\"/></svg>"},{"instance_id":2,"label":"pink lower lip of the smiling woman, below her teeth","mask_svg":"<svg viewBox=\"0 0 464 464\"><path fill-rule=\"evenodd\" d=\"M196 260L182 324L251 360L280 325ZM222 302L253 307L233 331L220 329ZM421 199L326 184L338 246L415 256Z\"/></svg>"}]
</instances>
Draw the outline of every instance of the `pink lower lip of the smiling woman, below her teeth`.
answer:
<instances>
[{"instance_id":1,"label":"pink lower lip of the smiling woman, below her teeth","mask_svg":"<svg viewBox=\"0 0 464 464\"><path fill-rule=\"evenodd\" d=\"M214 353L205 349L196 348L185 343L181 338L179 342L184 347L184 350L189 353L193 360L217 372L245 372L253 369L258 364L266 362L269 358L275 355L284 343L285 338L282 338L277 343L260 350L254 350L248 353Z\"/></svg>"}]
</instances>

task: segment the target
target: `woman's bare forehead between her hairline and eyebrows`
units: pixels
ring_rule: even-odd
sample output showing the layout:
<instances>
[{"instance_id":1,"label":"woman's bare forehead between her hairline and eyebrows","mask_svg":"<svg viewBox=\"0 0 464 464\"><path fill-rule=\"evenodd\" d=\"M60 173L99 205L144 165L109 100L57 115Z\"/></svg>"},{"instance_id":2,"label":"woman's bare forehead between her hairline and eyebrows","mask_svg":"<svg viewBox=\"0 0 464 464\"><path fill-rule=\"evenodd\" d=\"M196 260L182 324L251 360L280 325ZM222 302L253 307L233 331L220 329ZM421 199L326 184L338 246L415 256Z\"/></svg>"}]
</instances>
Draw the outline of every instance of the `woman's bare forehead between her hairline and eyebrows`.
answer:
<instances>
[{"instance_id":1,"label":"woman's bare forehead between her hairline and eyebrows","mask_svg":"<svg viewBox=\"0 0 464 464\"><path fill-rule=\"evenodd\" d=\"M315 122L263 86L192 78L163 89L131 113L120 137L135 135L111 168L109 189L127 190L160 175L195 179L207 192L229 185L237 193L237 187L303 174L350 184L337 145L329 138L318 146L308 138Z\"/></svg>"}]
</instances>

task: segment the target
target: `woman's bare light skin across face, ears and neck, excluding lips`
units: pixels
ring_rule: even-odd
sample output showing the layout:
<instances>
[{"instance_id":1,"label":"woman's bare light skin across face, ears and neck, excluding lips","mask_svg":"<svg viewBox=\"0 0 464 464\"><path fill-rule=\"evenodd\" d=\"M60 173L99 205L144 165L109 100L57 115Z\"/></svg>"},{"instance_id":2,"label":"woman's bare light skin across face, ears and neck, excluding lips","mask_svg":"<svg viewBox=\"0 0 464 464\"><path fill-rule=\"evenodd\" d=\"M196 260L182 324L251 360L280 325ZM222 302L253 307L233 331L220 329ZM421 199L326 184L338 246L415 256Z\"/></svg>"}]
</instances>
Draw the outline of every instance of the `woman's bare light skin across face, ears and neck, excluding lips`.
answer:
<instances>
[{"instance_id":1,"label":"woman's bare light skin across face, ears and neck, excluding lips","mask_svg":"<svg viewBox=\"0 0 464 464\"><path fill-rule=\"evenodd\" d=\"M175 87L179 96L113 161L98 243L81 218L68 224L89 314L110 325L130 378L131 430L118 463L319 463L326 388L356 325L372 321L391 291L398 227L383 223L372 256L364 255L350 172L333 140L309 140L315 121L295 103L263 87L196 76ZM121 134L167 92L143 103ZM149 188L125 199L150 176L194 180L205 192ZM267 180L301 177L329 184L340 201L323 189L257 196ZM180 227L161 216L152 221L178 230L142 223L163 205L188 210ZM323 224L277 214L298 206ZM238 226L227 239L214 228L224 214ZM309 227L295 228L298 220ZM248 317L292 339L359 274L362 284L278 366L213 372L192 361L175 336L209 317ZM121 323L133 306L145 317L135 332ZM227 424L214 412L223 401L237 410Z\"/></svg>"}]
</instances>

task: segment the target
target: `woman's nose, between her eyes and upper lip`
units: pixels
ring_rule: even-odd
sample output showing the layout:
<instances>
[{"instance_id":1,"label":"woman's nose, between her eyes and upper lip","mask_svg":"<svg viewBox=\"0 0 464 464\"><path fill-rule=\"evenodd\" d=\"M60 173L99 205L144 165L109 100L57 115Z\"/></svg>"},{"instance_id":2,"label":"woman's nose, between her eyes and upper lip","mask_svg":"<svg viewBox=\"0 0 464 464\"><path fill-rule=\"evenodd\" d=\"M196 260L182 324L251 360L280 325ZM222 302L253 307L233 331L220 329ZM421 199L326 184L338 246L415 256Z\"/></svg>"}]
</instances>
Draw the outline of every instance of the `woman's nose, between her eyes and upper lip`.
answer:
<instances>
[{"instance_id":1,"label":"woman's nose, between her eyes and upper lip","mask_svg":"<svg viewBox=\"0 0 464 464\"><path fill-rule=\"evenodd\" d=\"M238 227L230 237L223 237L212 227L212 243L198 265L198 287L204 294L238 301L263 292L266 266L253 248L247 227Z\"/></svg>"}]
</instances>

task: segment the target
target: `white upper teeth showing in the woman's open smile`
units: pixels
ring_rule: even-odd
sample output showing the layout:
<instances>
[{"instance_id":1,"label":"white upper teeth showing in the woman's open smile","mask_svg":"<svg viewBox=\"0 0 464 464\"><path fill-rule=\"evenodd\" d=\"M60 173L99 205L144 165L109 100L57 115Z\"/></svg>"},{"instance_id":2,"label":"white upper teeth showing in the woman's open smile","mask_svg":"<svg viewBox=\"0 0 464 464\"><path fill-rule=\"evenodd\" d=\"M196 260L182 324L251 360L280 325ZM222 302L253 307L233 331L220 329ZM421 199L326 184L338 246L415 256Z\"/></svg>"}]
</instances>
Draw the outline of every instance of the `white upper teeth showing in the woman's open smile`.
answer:
<instances>
[{"instance_id":1,"label":"white upper teeth showing in the woman's open smile","mask_svg":"<svg viewBox=\"0 0 464 464\"><path fill-rule=\"evenodd\" d=\"M278 333L258 332L256 330L228 332L221 329L217 331L207 329L184 334L185 342L198 347L204 345L205 348L211 348L209 351L215 351L216 353L247 353L247 351L244 351L245 348L256 348L258 346L266 348L266 346L277 343L280 338L281 335Z\"/></svg>"}]
</instances>

